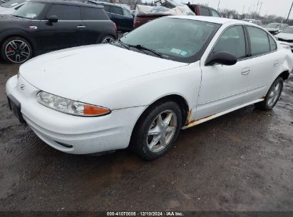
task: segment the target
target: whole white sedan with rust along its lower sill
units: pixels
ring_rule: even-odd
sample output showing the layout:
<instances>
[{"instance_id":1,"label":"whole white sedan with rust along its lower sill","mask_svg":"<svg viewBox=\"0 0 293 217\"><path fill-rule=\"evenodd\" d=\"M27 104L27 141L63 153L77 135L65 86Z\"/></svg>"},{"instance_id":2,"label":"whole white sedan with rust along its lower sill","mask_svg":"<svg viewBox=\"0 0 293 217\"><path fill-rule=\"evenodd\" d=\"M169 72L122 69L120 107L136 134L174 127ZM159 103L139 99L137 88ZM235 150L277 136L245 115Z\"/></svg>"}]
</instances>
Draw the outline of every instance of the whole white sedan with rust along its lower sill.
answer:
<instances>
[{"instance_id":1,"label":"whole white sedan with rust along its lower sill","mask_svg":"<svg viewBox=\"0 0 293 217\"><path fill-rule=\"evenodd\" d=\"M9 106L48 145L87 154L166 153L180 129L250 104L270 110L293 55L245 21L168 16L113 44L37 56L6 84Z\"/></svg>"}]
</instances>

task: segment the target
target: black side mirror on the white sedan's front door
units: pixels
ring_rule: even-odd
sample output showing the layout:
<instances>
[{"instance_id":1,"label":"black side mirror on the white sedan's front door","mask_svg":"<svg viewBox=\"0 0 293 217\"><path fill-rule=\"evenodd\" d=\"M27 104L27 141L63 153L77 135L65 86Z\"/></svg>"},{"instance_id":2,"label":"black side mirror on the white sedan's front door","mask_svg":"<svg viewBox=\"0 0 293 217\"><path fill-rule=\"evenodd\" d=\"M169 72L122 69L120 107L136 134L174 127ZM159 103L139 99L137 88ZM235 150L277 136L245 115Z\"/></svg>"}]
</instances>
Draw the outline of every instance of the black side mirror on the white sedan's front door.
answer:
<instances>
[{"instance_id":1,"label":"black side mirror on the white sedan's front door","mask_svg":"<svg viewBox=\"0 0 293 217\"><path fill-rule=\"evenodd\" d=\"M207 59L206 66L215 64L233 66L237 63L237 57L227 51L215 51Z\"/></svg>"}]
</instances>

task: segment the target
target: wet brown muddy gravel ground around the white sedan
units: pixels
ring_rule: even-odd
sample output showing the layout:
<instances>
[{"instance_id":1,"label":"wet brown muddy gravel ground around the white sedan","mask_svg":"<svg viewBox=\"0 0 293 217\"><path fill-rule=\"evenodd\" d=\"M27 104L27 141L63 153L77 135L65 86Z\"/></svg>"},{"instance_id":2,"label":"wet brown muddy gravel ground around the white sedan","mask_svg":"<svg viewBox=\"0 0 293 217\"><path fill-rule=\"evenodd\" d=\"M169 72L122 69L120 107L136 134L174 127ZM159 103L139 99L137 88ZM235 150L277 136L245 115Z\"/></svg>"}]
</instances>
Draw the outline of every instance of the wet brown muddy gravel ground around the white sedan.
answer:
<instances>
[{"instance_id":1,"label":"wet brown muddy gravel ground around the white sedan","mask_svg":"<svg viewBox=\"0 0 293 217\"><path fill-rule=\"evenodd\" d=\"M0 63L0 211L293 211L293 76L277 106L254 106L180 133L168 154L74 156L9 111Z\"/></svg>"}]
</instances>

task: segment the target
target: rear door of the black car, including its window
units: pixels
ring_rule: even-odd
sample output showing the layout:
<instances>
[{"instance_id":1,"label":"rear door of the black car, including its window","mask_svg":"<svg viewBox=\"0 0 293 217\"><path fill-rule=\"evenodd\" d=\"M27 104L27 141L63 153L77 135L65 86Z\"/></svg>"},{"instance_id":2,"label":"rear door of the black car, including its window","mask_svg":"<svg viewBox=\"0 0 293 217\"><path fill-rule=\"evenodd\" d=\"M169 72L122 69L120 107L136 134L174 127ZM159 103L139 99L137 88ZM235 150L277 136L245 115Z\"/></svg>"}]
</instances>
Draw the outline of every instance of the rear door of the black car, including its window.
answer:
<instances>
[{"instance_id":1,"label":"rear door of the black car, including its window","mask_svg":"<svg viewBox=\"0 0 293 217\"><path fill-rule=\"evenodd\" d=\"M81 7L81 17L86 26L83 29L83 44L100 43L110 25L106 12L103 9Z\"/></svg>"}]
</instances>

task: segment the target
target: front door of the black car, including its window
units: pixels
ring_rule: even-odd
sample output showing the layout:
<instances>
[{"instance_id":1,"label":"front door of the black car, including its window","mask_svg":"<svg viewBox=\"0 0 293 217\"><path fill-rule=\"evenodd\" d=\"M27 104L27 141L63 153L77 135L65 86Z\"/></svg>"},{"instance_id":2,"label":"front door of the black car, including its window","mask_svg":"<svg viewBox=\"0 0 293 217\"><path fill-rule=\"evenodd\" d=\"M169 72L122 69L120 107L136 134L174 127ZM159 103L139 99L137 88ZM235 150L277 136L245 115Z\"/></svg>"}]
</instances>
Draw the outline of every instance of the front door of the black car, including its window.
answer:
<instances>
[{"instance_id":1,"label":"front door of the black car, including its window","mask_svg":"<svg viewBox=\"0 0 293 217\"><path fill-rule=\"evenodd\" d=\"M57 16L57 23L49 23L49 16ZM39 41L47 51L66 49L83 44L84 24L79 6L51 4L41 22Z\"/></svg>"}]
</instances>

